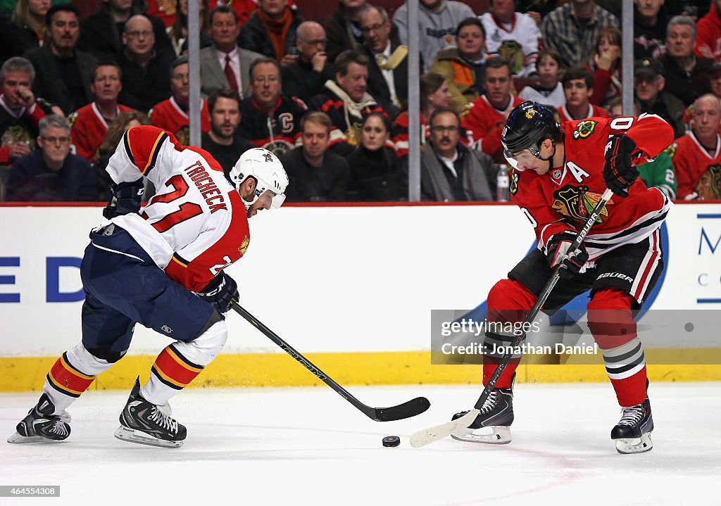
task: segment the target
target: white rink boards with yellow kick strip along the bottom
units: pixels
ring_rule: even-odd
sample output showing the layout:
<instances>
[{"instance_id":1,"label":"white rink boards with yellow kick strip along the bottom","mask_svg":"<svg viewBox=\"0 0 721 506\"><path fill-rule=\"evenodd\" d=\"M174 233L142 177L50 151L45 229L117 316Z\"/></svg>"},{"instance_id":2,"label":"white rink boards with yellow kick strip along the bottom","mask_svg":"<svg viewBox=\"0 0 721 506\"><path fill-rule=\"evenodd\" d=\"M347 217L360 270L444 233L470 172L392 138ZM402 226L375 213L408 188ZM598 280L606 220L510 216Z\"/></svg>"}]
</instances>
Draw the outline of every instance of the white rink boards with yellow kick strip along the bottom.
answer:
<instances>
[{"instance_id":1,"label":"white rink boards with yellow kick strip along the bottom","mask_svg":"<svg viewBox=\"0 0 721 506\"><path fill-rule=\"evenodd\" d=\"M0 216L0 390L39 389L57 356L79 341L78 267L102 216L99 207L71 205L4 205ZM250 226L248 252L228 270L242 305L344 384L477 383L477 365L430 364L430 311L483 306L534 243L513 205L284 206ZM684 319L712 311L702 320L713 320L721 309L721 204L674 206L663 236L666 269L647 309L685 311ZM238 315L227 322L223 355L193 386L319 383ZM651 378L721 379L715 334L699 341L679 330L678 339L645 342ZM164 345L138 326L128 356L93 387L128 388ZM683 364L673 363L677 356ZM519 380L606 381L606 373L599 357L596 365L522 365Z\"/></svg>"}]
</instances>

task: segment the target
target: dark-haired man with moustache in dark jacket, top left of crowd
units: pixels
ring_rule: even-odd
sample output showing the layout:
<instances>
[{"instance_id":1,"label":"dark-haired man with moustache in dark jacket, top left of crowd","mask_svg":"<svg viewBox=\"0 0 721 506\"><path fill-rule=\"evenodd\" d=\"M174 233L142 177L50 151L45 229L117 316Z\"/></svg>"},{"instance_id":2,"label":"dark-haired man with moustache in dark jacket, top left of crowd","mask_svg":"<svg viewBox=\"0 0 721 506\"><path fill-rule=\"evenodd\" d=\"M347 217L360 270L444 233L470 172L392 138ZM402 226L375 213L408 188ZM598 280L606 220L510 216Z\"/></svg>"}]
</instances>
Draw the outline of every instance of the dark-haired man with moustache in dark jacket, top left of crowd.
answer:
<instances>
[{"instance_id":1,"label":"dark-haired man with moustache in dark jacket, top left of crowd","mask_svg":"<svg viewBox=\"0 0 721 506\"><path fill-rule=\"evenodd\" d=\"M97 60L75 48L80 22L74 6L54 5L46 19L49 41L25 53L25 58L35 67L32 90L35 97L58 105L68 115L92 101L90 83Z\"/></svg>"}]
</instances>

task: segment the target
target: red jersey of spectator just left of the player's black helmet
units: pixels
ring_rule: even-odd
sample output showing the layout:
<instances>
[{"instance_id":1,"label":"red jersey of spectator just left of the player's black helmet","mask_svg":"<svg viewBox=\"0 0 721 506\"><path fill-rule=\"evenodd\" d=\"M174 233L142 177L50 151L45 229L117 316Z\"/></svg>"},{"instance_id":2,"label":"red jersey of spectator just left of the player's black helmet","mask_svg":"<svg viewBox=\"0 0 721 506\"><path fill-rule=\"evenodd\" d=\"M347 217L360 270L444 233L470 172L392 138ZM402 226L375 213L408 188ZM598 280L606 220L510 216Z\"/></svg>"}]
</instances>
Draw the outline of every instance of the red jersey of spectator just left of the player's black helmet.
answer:
<instances>
[{"instance_id":1,"label":"red jersey of spectator just left of the player's black helmet","mask_svg":"<svg viewBox=\"0 0 721 506\"><path fill-rule=\"evenodd\" d=\"M489 154L499 163L503 159L503 148L500 144L500 134L503 133L505 119L513 107L523 103L523 99L512 95L508 107L499 111L493 107L485 95L481 95L461 112L461 127L466 130L466 140L469 147Z\"/></svg>"}]
</instances>

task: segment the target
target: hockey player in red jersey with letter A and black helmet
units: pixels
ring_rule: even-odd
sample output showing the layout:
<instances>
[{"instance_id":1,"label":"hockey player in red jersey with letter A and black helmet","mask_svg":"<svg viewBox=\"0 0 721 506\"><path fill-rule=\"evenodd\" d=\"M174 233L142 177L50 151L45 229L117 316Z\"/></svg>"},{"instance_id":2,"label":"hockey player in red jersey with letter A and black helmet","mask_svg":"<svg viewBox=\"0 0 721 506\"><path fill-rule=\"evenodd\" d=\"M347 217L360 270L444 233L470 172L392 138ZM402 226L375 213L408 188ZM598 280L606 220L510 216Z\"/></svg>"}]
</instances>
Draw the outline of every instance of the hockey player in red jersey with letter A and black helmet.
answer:
<instances>
[{"instance_id":1,"label":"hockey player in red jersey with letter A and black helmet","mask_svg":"<svg viewBox=\"0 0 721 506\"><path fill-rule=\"evenodd\" d=\"M511 198L534 226L537 248L491 288L487 320L523 321L552 268L562 263L561 279L543 309L559 309L590 290L588 327L623 413L611 439L619 453L650 450L646 363L632 310L640 308L663 269L659 228L671 202L656 188L645 187L635 165L663 151L673 141L673 129L655 115L590 117L559 125L549 107L523 102L510 113L502 140L514 167ZM569 251L606 187L614 196L583 244ZM493 351L510 345L513 337L487 332L484 384L503 356ZM513 378L520 358L513 356L481 414L454 438L510 442ZM492 427L493 435L480 435L481 427Z\"/></svg>"}]
</instances>

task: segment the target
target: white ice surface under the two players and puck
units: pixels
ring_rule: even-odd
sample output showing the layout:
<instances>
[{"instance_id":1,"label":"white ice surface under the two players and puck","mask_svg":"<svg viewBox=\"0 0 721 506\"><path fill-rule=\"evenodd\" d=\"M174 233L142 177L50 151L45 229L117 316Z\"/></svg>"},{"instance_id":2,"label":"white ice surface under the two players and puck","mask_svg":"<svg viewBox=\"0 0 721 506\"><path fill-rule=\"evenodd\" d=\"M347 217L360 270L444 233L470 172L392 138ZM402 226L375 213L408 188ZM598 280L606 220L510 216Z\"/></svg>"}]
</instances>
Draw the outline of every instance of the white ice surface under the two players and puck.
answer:
<instances>
[{"instance_id":1,"label":"white ice surface under the two players and puck","mask_svg":"<svg viewBox=\"0 0 721 506\"><path fill-rule=\"evenodd\" d=\"M410 448L415 430L469 409L474 386L350 387L373 407L430 399L410 420L373 422L324 386L189 389L172 399L180 449L112 437L127 392L89 391L62 443L0 442L0 484L60 485L59 499L0 505L719 505L721 383L652 383L649 453L622 456L611 386L516 385L510 445L450 438ZM38 394L0 394L0 435ZM399 435L398 448L381 439Z\"/></svg>"}]
</instances>

